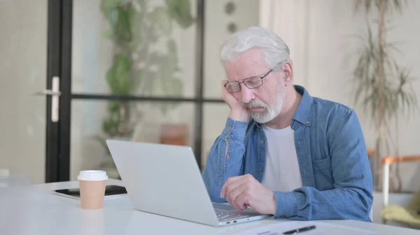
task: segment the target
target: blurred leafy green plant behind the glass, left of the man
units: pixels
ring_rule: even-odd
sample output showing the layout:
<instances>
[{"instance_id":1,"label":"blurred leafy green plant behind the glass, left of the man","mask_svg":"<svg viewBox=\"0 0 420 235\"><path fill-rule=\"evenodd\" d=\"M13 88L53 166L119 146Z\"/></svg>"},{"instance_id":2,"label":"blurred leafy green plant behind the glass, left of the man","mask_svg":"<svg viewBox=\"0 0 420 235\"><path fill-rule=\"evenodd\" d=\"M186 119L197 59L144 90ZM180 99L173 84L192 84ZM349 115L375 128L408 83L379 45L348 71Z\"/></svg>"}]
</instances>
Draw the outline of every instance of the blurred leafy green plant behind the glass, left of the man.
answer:
<instances>
[{"instance_id":1,"label":"blurred leafy green plant behind the glass, left of the man","mask_svg":"<svg viewBox=\"0 0 420 235\"><path fill-rule=\"evenodd\" d=\"M104 33L112 40L113 64L106 73L106 82L112 95L182 96L176 43L171 38L174 22L186 29L195 21L190 13L190 0L165 0L161 6L151 6L147 0L102 0L101 10L110 29ZM165 40L166 52L153 50ZM175 103L156 103L154 107L166 114ZM131 139L135 124L140 119L130 114L133 103L111 100L108 116L102 122L104 135L97 137L109 154L105 139ZM113 169L109 158L102 167Z\"/></svg>"}]
</instances>

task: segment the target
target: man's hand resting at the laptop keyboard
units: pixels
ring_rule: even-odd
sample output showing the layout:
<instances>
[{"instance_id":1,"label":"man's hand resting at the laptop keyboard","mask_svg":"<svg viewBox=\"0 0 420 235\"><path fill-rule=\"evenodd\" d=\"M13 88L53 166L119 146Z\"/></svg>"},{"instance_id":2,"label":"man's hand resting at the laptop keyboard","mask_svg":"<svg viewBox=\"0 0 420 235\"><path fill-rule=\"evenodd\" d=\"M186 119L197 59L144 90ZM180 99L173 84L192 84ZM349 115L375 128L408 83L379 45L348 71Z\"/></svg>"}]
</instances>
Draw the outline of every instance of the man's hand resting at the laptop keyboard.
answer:
<instances>
[{"instance_id":1,"label":"man's hand resting at the laptop keyboard","mask_svg":"<svg viewBox=\"0 0 420 235\"><path fill-rule=\"evenodd\" d=\"M260 214L276 213L274 192L258 182L251 174L231 177L223 185L221 198L239 211L251 206Z\"/></svg>"}]
</instances>

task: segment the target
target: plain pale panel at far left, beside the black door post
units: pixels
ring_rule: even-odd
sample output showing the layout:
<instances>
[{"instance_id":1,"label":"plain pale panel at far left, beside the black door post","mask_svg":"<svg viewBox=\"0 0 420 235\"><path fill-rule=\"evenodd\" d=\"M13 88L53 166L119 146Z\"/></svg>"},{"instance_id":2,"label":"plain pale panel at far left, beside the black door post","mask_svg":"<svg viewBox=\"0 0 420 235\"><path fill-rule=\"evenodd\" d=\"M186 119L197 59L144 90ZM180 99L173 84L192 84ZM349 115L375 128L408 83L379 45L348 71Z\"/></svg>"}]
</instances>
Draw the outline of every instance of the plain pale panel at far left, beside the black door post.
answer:
<instances>
[{"instance_id":1,"label":"plain pale panel at far left, beside the black door post","mask_svg":"<svg viewBox=\"0 0 420 235\"><path fill-rule=\"evenodd\" d=\"M0 1L0 169L45 177L47 1Z\"/></svg>"}]
</instances>

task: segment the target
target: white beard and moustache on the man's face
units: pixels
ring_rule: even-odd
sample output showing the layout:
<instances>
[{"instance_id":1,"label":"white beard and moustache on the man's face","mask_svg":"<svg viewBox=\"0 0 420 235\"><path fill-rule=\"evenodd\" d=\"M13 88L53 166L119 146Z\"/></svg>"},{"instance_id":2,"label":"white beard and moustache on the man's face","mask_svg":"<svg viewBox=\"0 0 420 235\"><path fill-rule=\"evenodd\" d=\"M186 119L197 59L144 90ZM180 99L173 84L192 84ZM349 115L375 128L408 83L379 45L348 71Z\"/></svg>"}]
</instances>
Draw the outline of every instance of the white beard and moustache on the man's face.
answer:
<instances>
[{"instance_id":1,"label":"white beard and moustache on the man's face","mask_svg":"<svg viewBox=\"0 0 420 235\"><path fill-rule=\"evenodd\" d=\"M279 91L274 93L274 96L270 97L270 100L276 100L276 105L274 105L272 108L261 100L253 100L250 103L241 103L241 105L246 108L262 107L267 110L266 112L249 112L251 118L256 122L267 123L275 119L276 116L279 116L281 109L283 109L284 96L284 89L283 86L281 86Z\"/></svg>"}]
</instances>

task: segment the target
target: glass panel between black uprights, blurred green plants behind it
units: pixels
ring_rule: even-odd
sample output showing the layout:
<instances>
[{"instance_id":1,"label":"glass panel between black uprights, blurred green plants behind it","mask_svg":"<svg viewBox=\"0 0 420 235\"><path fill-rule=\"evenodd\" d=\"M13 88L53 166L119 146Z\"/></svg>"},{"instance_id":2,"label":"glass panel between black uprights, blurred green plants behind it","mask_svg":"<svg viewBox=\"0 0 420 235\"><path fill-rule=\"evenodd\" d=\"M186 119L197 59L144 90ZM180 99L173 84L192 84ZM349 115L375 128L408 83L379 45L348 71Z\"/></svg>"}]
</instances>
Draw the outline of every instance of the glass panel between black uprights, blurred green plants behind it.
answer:
<instances>
[{"instance_id":1,"label":"glass panel between black uprights, blurred green plants behind it","mask_svg":"<svg viewBox=\"0 0 420 235\"><path fill-rule=\"evenodd\" d=\"M193 146L201 164L203 1L73 0L69 178L106 139Z\"/></svg>"}]
</instances>

